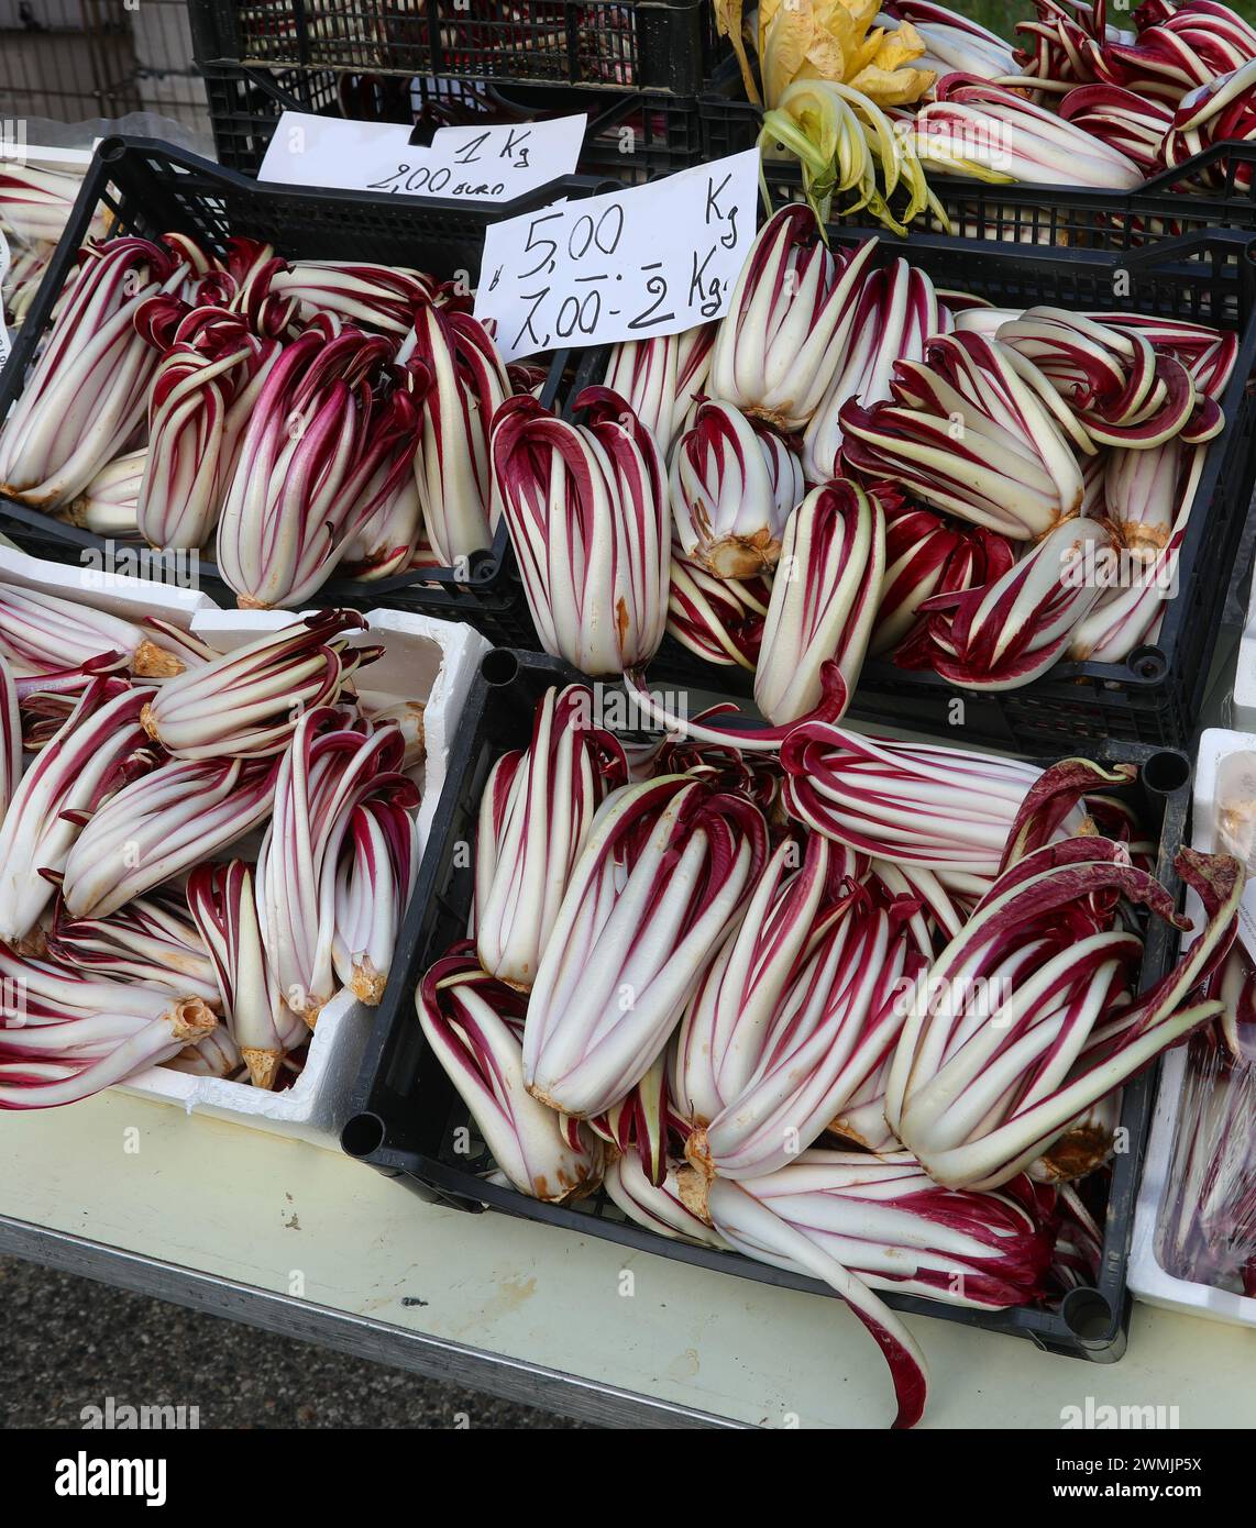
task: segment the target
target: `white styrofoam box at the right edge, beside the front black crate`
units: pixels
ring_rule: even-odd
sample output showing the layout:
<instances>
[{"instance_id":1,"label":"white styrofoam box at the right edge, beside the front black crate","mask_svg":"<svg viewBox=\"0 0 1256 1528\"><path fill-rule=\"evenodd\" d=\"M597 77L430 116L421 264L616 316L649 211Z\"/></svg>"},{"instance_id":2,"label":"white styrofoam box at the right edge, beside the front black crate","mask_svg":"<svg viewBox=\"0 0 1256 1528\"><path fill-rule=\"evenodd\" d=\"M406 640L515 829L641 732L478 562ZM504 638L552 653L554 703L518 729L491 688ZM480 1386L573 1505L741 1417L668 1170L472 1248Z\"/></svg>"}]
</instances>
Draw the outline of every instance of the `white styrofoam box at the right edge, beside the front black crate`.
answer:
<instances>
[{"instance_id":1,"label":"white styrofoam box at the right edge, beside the front black crate","mask_svg":"<svg viewBox=\"0 0 1256 1528\"><path fill-rule=\"evenodd\" d=\"M1195 761L1195 802L1192 845L1210 853L1216 847L1216 776L1221 762L1233 753L1256 753L1256 735L1213 727L1199 740ZM1256 880L1248 882L1245 905L1256 903ZM1195 927L1203 927L1203 908L1190 892L1186 906ZM1253 909L1256 911L1256 909ZM1190 935L1186 935L1189 944ZM1195 1284L1167 1273L1157 1256L1160 1209L1167 1187L1173 1155L1178 1108L1186 1074L1186 1047L1170 1050L1160 1070L1160 1093L1155 1100L1151 1140L1143 1166L1143 1183L1134 1212L1134 1241L1129 1248L1129 1288L1148 1305L1163 1305L1170 1311L1186 1311L1215 1322L1256 1326L1256 1299L1216 1290L1210 1284Z\"/></svg>"}]
</instances>

